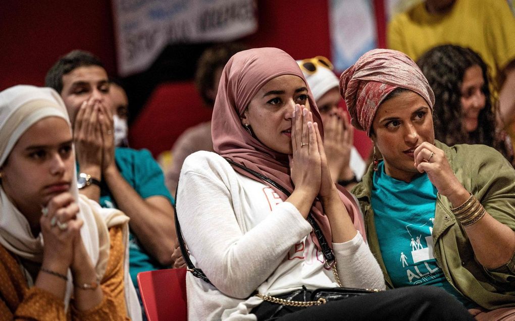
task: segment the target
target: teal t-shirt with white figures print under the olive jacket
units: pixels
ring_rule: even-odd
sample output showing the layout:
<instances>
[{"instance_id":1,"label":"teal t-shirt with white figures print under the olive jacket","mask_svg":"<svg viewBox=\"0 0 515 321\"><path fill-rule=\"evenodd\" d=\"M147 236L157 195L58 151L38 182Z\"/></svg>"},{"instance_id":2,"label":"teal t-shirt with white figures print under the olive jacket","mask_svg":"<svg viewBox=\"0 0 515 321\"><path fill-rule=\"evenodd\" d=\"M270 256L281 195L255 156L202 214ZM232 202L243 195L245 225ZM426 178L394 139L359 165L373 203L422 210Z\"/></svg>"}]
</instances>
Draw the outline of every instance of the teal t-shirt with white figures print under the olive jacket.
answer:
<instances>
[{"instance_id":1,"label":"teal t-shirt with white figures print under the olive jacket","mask_svg":"<svg viewBox=\"0 0 515 321\"><path fill-rule=\"evenodd\" d=\"M433 256L437 192L427 174L406 183L388 176L384 162L379 163L371 202L381 255L394 287L440 287L473 307L445 278Z\"/></svg>"}]
</instances>

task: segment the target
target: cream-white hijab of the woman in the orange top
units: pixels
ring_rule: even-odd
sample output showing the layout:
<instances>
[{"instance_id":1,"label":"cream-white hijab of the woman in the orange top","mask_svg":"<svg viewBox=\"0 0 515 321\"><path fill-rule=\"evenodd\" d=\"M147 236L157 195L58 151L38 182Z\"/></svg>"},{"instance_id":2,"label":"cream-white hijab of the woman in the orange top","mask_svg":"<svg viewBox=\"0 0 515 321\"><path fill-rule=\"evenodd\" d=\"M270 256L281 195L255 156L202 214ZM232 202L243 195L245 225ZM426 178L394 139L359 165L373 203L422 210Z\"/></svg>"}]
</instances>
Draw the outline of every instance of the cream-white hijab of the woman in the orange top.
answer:
<instances>
[{"instance_id":1,"label":"cream-white hijab of the woman in the orange top","mask_svg":"<svg viewBox=\"0 0 515 321\"><path fill-rule=\"evenodd\" d=\"M25 131L46 117L64 119L70 131L70 120L64 102L52 88L40 88L19 85L0 92L0 166L4 164L12 148ZM109 231L115 225L123 225L125 257L124 283L127 313L133 320L141 319L141 308L134 286L129 276L128 221L129 218L115 209L102 209L98 203L84 196L77 190L77 174L74 171L70 193L77 200L80 212L78 218L84 221L80 234L84 246L95 266L98 279L102 279L109 258ZM34 262L43 259L44 240L40 233L33 237L25 216L14 206L0 184L0 244L19 257ZM21 267L22 269L23 266ZM29 286L33 280L29 273L24 273ZM67 309L73 292L73 279L68 270L68 282L64 304Z\"/></svg>"}]
</instances>

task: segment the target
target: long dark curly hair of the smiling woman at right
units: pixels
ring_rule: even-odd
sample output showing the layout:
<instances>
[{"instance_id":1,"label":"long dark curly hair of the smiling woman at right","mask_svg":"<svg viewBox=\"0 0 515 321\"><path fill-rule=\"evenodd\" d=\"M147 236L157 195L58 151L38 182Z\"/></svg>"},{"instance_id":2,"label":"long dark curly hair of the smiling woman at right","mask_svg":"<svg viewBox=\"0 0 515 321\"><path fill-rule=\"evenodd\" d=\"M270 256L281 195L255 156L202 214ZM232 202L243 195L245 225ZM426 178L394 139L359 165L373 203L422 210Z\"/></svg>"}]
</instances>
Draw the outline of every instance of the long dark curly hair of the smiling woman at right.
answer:
<instances>
[{"instance_id":1,"label":"long dark curly hair of the smiling woman at right","mask_svg":"<svg viewBox=\"0 0 515 321\"><path fill-rule=\"evenodd\" d=\"M469 48L442 45L424 53L417 62L435 92L435 138L447 145L484 144L491 146L508 158L504 141L496 136L496 103L491 95L492 81L486 63ZM485 107L479 112L477 128L468 133L462 119L461 85L465 71L479 66L485 84Z\"/></svg>"}]
</instances>

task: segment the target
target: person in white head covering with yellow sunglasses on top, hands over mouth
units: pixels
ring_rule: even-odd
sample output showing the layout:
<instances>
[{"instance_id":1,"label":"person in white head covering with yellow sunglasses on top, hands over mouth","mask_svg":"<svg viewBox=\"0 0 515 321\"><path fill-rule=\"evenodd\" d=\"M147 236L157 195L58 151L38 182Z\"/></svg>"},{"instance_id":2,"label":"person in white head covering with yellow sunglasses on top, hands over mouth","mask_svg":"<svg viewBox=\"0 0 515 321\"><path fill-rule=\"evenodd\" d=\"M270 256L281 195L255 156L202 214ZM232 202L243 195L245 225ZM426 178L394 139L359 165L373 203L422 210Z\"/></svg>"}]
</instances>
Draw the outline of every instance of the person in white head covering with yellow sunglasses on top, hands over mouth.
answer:
<instances>
[{"instance_id":1,"label":"person in white head covering with yellow sunglasses on top, hands over mouth","mask_svg":"<svg viewBox=\"0 0 515 321\"><path fill-rule=\"evenodd\" d=\"M365 162L354 144L354 128L347 113L339 107L342 99L333 65L323 57L298 60L317 102L324 129L324 149L333 181L352 188L365 173Z\"/></svg>"}]
</instances>

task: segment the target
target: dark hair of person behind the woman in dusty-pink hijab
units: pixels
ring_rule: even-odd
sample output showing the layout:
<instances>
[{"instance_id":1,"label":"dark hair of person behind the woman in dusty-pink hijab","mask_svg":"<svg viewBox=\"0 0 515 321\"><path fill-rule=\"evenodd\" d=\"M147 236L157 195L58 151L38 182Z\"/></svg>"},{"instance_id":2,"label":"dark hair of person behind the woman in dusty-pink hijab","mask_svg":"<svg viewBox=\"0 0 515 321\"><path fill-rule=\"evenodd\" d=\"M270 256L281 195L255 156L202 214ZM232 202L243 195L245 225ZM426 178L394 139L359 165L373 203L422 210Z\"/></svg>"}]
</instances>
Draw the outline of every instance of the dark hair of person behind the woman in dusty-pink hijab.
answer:
<instances>
[{"instance_id":1,"label":"dark hair of person behind the woman in dusty-pink hijab","mask_svg":"<svg viewBox=\"0 0 515 321\"><path fill-rule=\"evenodd\" d=\"M247 49L238 43L218 44L205 49L197 62L195 72L195 85L205 104L214 106L215 101L211 98L208 91L213 89L215 84L215 71L224 68L231 57L242 50Z\"/></svg>"}]
</instances>

